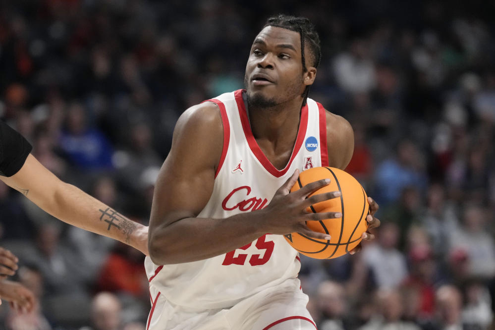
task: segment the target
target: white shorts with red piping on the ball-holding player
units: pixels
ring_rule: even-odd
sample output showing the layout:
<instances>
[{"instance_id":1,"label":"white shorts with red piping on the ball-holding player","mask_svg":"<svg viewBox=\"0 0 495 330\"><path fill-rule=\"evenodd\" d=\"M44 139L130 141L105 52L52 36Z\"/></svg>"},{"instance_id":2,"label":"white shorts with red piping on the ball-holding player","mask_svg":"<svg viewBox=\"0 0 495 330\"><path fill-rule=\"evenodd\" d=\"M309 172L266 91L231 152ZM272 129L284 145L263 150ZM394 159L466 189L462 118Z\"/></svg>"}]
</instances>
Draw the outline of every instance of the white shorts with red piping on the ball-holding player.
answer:
<instances>
[{"instance_id":1,"label":"white shorts with red piping on the ball-holding player","mask_svg":"<svg viewBox=\"0 0 495 330\"><path fill-rule=\"evenodd\" d=\"M148 330L315 330L299 279L288 279L229 309L198 310L170 303L151 292ZM155 298L156 297L156 298Z\"/></svg>"}]
</instances>

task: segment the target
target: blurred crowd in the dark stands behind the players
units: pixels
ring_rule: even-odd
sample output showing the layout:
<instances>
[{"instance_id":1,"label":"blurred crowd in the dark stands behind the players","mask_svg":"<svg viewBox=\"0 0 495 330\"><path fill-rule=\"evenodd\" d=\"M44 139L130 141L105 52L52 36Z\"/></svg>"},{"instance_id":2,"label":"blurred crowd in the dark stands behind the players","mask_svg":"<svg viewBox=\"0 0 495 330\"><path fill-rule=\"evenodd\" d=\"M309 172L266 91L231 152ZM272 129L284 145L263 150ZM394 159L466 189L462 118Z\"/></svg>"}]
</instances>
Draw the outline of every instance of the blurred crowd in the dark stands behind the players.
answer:
<instances>
[{"instance_id":1,"label":"blurred crowd in the dark stands behind the players","mask_svg":"<svg viewBox=\"0 0 495 330\"><path fill-rule=\"evenodd\" d=\"M490 329L492 1L1 1L0 118L62 180L147 223L176 119L243 87L252 40L278 12L316 24L310 97L353 125L347 170L381 206L359 254L301 258L319 329ZM29 315L2 304L5 328L145 329L139 252L2 183L0 245L41 302Z\"/></svg>"}]
</instances>

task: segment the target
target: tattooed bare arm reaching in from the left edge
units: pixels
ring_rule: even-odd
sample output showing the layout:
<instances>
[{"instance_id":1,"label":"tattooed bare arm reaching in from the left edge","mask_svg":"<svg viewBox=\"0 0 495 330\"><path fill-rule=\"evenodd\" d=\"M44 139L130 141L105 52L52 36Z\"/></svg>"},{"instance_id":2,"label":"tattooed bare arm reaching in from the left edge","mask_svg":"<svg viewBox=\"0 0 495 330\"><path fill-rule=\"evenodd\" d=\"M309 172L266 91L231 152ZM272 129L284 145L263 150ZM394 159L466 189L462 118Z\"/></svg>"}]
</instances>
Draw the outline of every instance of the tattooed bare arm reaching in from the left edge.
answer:
<instances>
[{"instance_id":1,"label":"tattooed bare arm reaching in from the left edge","mask_svg":"<svg viewBox=\"0 0 495 330\"><path fill-rule=\"evenodd\" d=\"M45 212L68 224L128 244L148 255L148 227L122 216L79 188L58 179L29 155L10 177L0 176Z\"/></svg>"}]
</instances>

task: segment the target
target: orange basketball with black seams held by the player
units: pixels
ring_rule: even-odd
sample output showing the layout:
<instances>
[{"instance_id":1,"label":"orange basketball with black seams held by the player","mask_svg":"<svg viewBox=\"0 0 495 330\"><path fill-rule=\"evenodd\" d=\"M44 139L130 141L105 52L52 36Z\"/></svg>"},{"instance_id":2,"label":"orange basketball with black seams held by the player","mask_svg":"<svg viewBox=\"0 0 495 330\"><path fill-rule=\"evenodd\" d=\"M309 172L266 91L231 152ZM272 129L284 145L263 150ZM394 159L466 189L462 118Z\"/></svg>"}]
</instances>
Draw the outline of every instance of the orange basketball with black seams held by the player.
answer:
<instances>
[{"instance_id":1,"label":"orange basketball with black seams held by the player","mask_svg":"<svg viewBox=\"0 0 495 330\"><path fill-rule=\"evenodd\" d=\"M359 244L361 235L368 229L368 196L361 184L341 169L314 167L305 170L299 174L290 191L297 191L308 183L326 178L330 178L330 184L314 194L340 191L340 197L314 204L307 211L340 212L342 218L308 221L307 224L311 230L330 234L330 240L316 239L296 232L284 235L294 249L316 259L332 259L346 254Z\"/></svg>"}]
</instances>

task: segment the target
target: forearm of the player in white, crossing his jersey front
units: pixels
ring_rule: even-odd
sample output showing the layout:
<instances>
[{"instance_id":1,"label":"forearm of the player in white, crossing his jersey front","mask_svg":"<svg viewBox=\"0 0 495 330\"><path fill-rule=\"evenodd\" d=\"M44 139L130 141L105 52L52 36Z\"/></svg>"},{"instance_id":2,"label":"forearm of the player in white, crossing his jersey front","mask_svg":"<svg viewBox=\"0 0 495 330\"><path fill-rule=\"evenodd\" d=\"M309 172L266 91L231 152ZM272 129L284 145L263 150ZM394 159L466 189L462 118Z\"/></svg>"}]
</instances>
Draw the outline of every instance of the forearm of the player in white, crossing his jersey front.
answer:
<instances>
[{"instance_id":1,"label":"forearm of the player in white, crossing his jersey front","mask_svg":"<svg viewBox=\"0 0 495 330\"><path fill-rule=\"evenodd\" d=\"M254 211L226 219L185 218L150 230L150 257L157 265L212 258L251 243L267 232ZM153 220L152 220L153 221Z\"/></svg>"}]
</instances>

